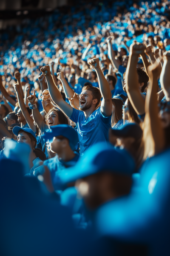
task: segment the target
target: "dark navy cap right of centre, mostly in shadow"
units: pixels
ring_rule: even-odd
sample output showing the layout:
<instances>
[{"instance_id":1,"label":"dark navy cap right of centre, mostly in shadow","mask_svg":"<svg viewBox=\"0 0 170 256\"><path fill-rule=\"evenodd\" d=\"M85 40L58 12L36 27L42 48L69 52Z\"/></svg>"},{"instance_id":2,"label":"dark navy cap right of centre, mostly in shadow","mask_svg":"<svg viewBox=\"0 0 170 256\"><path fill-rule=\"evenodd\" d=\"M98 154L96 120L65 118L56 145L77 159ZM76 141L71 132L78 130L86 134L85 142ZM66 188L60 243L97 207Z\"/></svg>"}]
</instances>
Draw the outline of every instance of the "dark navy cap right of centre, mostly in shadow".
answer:
<instances>
[{"instance_id":1,"label":"dark navy cap right of centre, mostly in shadow","mask_svg":"<svg viewBox=\"0 0 170 256\"><path fill-rule=\"evenodd\" d=\"M139 140L142 136L142 129L136 123L127 123L119 126L118 129L112 129L112 134L116 137L133 137Z\"/></svg>"}]
</instances>

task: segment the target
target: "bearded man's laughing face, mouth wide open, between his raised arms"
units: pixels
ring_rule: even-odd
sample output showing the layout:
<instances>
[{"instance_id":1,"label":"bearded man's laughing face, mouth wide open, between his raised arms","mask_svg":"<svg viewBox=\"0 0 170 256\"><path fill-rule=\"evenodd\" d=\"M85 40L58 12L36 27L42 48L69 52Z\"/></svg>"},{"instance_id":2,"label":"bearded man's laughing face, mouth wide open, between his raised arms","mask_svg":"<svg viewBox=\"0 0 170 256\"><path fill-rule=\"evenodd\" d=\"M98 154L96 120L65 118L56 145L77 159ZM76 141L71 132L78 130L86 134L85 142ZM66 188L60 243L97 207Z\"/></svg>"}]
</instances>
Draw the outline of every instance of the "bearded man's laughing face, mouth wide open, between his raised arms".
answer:
<instances>
[{"instance_id":1,"label":"bearded man's laughing face, mouth wide open, between his raised arms","mask_svg":"<svg viewBox=\"0 0 170 256\"><path fill-rule=\"evenodd\" d=\"M91 108L92 104L96 105L97 99L93 99L93 94L90 90L83 90L79 96L79 110L85 111Z\"/></svg>"}]
</instances>

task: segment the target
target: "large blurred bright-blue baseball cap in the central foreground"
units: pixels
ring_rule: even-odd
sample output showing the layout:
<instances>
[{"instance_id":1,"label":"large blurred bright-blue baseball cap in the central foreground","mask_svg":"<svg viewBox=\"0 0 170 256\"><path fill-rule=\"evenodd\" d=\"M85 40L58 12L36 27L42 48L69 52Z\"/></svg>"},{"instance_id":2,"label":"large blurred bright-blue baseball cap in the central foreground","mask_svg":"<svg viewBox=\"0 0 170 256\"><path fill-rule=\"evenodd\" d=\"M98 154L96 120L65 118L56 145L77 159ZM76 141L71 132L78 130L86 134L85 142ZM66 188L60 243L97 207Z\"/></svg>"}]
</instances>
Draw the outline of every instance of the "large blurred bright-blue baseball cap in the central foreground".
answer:
<instances>
[{"instance_id":1,"label":"large blurred bright-blue baseball cap in the central foreground","mask_svg":"<svg viewBox=\"0 0 170 256\"><path fill-rule=\"evenodd\" d=\"M114 148L111 144L96 143L79 157L75 166L62 171L56 183L70 183L102 171L131 176L135 171L135 162L125 149Z\"/></svg>"}]
</instances>

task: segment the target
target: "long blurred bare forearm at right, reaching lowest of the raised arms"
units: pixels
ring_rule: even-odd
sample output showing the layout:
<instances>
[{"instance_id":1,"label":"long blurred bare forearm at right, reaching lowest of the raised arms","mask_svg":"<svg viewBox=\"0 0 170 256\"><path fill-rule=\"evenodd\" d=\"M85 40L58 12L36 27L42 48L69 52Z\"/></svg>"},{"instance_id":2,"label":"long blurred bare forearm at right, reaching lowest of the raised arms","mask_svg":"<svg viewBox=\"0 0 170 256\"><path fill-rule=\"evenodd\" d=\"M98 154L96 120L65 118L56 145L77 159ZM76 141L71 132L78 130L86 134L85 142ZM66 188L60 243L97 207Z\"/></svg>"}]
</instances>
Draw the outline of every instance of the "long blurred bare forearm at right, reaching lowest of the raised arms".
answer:
<instances>
[{"instance_id":1,"label":"long blurred bare forearm at right, reaching lowest of the raised arms","mask_svg":"<svg viewBox=\"0 0 170 256\"><path fill-rule=\"evenodd\" d=\"M161 152L165 145L164 131L158 116L159 108L157 102L158 76L161 73L160 62L155 61L148 67L150 76L145 100L144 118L144 158L151 157Z\"/></svg>"}]
</instances>

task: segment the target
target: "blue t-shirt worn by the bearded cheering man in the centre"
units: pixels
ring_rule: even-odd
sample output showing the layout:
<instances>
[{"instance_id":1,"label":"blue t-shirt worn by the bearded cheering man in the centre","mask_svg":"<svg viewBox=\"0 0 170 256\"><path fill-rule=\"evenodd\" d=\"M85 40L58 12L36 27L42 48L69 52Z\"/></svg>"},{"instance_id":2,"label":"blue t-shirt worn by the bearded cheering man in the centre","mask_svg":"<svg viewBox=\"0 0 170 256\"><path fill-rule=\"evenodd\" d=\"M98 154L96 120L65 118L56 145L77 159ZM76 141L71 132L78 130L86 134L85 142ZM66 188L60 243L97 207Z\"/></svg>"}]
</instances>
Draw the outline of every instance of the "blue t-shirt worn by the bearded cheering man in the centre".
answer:
<instances>
[{"instance_id":1,"label":"blue t-shirt worn by the bearded cheering man in the centre","mask_svg":"<svg viewBox=\"0 0 170 256\"><path fill-rule=\"evenodd\" d=\"M77 123L77 132L80 144L80 154L88 147L99 142L108 141L108 129L111 128L111 116L105 117L100 107L87 119L83 111L73 108L70 119Z\"/></svg>"}]
</instances>

